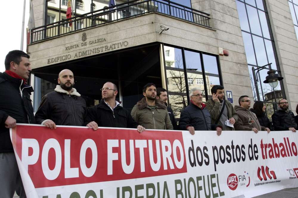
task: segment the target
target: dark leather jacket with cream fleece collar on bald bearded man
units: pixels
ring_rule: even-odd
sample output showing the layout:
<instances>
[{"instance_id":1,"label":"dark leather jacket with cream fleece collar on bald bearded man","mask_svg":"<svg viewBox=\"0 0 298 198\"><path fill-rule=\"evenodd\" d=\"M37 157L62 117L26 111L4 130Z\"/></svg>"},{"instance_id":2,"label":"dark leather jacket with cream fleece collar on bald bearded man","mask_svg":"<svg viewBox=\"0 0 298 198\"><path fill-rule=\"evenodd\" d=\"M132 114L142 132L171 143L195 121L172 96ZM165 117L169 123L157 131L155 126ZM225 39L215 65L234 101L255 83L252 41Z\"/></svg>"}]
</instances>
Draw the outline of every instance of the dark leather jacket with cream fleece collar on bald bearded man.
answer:
<instances>
[{"instance_id":1,"label":"dark leather jacket with cream fleece collar on bald bearded man","mask_svg":"<svg viewBox=\"0 0 298 198\"><path fill-rule=\"evenodd\" d=\"M36 123L43 124L49 119L56 125L84 126L87 107L85 100L80 96L75 88L69 94L57 85L55 91L46 94L41 99L35 113Z\"/></svg>"}]
</instances>

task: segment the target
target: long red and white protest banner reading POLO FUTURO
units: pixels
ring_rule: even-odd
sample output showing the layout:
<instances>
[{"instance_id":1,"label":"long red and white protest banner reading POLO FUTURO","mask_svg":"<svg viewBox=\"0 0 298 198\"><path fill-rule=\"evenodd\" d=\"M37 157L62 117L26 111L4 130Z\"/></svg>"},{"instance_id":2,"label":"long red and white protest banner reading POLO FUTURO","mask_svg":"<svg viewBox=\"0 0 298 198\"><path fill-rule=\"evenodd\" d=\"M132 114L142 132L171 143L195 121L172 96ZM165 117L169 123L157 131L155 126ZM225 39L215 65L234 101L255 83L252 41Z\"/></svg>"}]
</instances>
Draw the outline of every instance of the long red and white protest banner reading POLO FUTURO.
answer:
<instances>
[{"instance_id":1,"label":"long red and white protest banner reading POLO FUTURO","mask_svg":"<svg viewBox=\"0 0 298 198\"><path fill-rule=\"evenodd\" d=\"M254 197L298 187L298 133L18 124L28 198Z\"/></svg>"}]
</instances>

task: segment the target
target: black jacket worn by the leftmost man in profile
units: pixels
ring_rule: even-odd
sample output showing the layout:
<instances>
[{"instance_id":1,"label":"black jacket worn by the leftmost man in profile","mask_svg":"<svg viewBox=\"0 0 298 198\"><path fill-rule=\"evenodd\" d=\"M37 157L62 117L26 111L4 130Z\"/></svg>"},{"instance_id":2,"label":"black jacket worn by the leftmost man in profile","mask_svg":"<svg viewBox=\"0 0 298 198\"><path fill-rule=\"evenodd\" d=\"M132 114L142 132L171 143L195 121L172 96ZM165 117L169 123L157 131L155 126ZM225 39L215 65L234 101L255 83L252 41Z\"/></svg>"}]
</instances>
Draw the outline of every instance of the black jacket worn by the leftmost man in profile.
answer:
<instances>
[{"instance_id":1,"label":"black jacket worn by the leftmost man in profile","mask_svg":"<svg viewBox=\"0 0 298 198\"><path fill-rule=\"evenodd\" d=\"M13 152L9 129L5 128L8 116L17 123L35 124L31 92L32 86L25 85L23 80L0 72L0 153Z\"/></svg>"}]
</instances>

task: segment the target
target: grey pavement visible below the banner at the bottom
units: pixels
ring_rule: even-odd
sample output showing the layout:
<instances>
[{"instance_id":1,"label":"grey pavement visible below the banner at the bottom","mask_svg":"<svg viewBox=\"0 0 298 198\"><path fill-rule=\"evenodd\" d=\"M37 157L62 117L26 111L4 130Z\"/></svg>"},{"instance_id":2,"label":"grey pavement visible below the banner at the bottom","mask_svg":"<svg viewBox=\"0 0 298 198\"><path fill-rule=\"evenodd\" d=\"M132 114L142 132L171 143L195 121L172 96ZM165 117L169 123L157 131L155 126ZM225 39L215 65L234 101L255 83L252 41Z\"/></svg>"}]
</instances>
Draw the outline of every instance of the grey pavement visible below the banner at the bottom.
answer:
<instances>
[{"instance_id":1,"label":"grey pavement visible below the banner at the bottom","mask_svg":"<svg viewBox=\"0 0 298 198\"><path fill-rule=\"evenodd\" d=\"M18 195L15 194L13 198L18 198ZM253 198L298 198L298 188L286 188L280 191L263 194Z\"/></svg>"}]
</instances>

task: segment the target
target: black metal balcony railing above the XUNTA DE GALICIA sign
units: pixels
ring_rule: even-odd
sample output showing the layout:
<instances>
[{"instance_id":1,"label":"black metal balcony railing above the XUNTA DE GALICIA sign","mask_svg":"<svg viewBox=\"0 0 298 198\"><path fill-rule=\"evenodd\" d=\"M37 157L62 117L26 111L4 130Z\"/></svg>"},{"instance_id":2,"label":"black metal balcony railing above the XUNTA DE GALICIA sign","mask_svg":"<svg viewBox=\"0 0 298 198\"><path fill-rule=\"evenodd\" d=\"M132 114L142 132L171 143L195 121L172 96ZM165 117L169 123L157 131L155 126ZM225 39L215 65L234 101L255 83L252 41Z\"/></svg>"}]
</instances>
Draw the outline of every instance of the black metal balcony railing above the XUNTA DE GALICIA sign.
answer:
<instances>
[{"instance_id":1,"label":"black metal balcony railing above the XUNTA DE GALICIA sign","mask_svg":"<svg viewBox=\"0 0 298 198\"><path fill-rule=\"evenodd\" d=\"M33 28L30 32L30 43L150 12L163 13L195 24L210 27L208 13L174 2L168 4L156 0L145 0L141 2L134 0Z\"/></svg>"}]
</instances>

